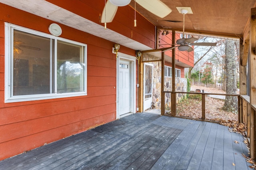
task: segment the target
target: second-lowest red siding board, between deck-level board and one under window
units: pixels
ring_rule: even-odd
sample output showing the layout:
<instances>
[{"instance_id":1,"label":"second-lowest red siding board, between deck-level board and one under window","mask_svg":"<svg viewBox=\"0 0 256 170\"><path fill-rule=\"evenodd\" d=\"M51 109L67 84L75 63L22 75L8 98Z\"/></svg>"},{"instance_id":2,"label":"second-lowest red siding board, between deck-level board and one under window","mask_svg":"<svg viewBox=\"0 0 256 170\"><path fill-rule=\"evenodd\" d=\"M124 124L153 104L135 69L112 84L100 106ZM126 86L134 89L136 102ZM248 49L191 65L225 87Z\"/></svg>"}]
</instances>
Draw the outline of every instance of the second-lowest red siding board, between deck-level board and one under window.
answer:
<instances>
[{"instance_id":1,"label":"second-lowest red siding board, between deck-level board and one under window","mask_svg":"<svg viewBox=\"0 0 256 170\"><path fill-rule=\"evenodd\" d=\"M32 119L27 121L21 121L18 123L2 125L0 129L5 133L1 135L0 143L21 138L24 136L32 135L42 131L47 131L57 127L62 127L72 123L77 123L78 125L80 125L80 121L91 119L93 117L99 117L106 113L113 113L115 112L115 109L116 109L115 104L111 104L108 106L98 106L96 108L82 109L82 110L66 112L66 113L47 116L47 117L41 117L38 119ZM47 111L47 109L44 109L44 110ZM56 121L56 120L61 120L61 121ZM80 131L80 129L77 128L76 131Z\"/></svg>"}]
</instances>

